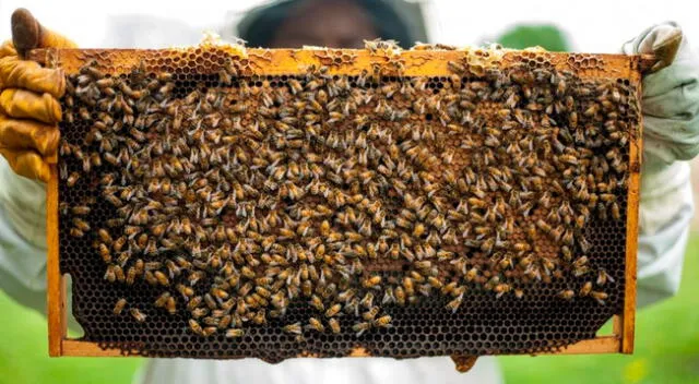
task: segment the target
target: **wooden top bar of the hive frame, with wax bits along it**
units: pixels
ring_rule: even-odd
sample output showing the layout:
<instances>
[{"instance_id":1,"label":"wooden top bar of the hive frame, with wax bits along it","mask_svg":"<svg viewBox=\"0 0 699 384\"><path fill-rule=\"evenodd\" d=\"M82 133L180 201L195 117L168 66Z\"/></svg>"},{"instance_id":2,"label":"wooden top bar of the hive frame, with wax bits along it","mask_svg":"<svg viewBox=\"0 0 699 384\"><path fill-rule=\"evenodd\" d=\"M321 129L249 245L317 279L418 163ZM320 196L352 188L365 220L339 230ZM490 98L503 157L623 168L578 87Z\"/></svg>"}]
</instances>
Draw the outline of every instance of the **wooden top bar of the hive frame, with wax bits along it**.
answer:
<instances>
[{"instance_id":1,"label":"wooden top bar of the hive frame, with wax bits along it","mask_svg":"<svg viewBox=\"0 0 699 384\"><path fill-rule=\"evenodd\" d=\"M177 65L190 59L192 49L200 52L223 53L248 60L250 72L246 75L281 75L296 74L306 71L308 65L327 65L331 74L356 75L362 71L371 71L374 64L381 64L382 74L400 74L404 76L451 75L449 61L469 58L471 63L483 67L509 67L516 59L546 57L559 70L574 71L581 77L624 77L632 82L640 80L640 74L654 62L651 55L612 55L612 53L564 53L544 50L400 50L371 52L366 49L242 49L237 46L203 45L188 49L35 49L28 58L49 67L57 65L67 73L75 73L81 65L96 60L97 68L108 73L120 74L131 71L142 61L146 68L164 67L168 63ZM192 56L193 57L193 56ZM169 61L168 61L169 60ZM221 63L211 61L202 63L198 73L215 73ZM388 65L387 65L388 64ZM392 67L392 64L395 64ZM393 71L391 71L393 68Z\"/></svg>"}]
</instances>

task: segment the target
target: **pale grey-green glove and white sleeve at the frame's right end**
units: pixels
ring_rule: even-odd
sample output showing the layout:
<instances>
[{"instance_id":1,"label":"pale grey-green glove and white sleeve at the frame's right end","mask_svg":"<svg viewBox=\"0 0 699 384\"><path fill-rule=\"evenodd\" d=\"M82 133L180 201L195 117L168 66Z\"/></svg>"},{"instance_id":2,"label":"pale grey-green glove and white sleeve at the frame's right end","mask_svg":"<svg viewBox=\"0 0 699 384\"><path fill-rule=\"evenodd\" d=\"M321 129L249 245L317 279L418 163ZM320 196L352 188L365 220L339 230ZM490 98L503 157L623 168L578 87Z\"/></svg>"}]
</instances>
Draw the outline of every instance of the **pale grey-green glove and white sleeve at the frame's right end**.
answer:
<instances>
[{"instance_id":1,"label":"pale grey-green glove and white sleeve at the frame's right end","mask_svg":"<svg viewBox=\"0 0 699 384\"><path fill-rule=\"evenodd\" d=\"M699 153L699 56L682 28L663 23L621 47L654 53L643 76L643 166L639 214L638 299L647 304L679 288L694 213L689 165Z\"/></svg>"}]
</instances>

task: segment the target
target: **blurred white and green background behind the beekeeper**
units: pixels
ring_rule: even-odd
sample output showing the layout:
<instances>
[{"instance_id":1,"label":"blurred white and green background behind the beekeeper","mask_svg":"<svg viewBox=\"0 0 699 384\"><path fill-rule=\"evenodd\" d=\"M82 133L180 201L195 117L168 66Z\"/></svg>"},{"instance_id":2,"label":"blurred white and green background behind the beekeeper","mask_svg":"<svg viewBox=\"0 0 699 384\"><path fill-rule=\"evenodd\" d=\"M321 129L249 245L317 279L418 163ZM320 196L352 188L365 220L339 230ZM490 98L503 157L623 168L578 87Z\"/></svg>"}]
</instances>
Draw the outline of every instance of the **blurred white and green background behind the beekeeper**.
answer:
<instances>
[{"instance_id":1,"label":"blurred white and green background behind the beekeeper","mask_svg":"<svg viewBox=\"0 0 699 384\"><path fill-rule=\"evenodd\" d=\"M42 23L85 48L162 48L197 44L203 31L234 38L236 24L259 0L208 1L4 1L0 32L10 15L29 9ZM452 45L500 43L556 51L616 52L654 23L673 20L696 47L699 23L691 2L389 0L411 23L424 23L425 40ZM699 167L692 167L699 191ZM506 382L699 383L699 215L687 249L679 295L643 309L632 356L500 358ZM49 359L46 320L0 292L0 384L129 383L140 359ZM608 326L604 331L608 331Z\"/></svg>"}]
</instances>

